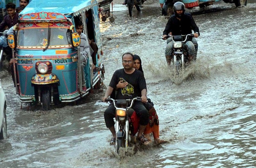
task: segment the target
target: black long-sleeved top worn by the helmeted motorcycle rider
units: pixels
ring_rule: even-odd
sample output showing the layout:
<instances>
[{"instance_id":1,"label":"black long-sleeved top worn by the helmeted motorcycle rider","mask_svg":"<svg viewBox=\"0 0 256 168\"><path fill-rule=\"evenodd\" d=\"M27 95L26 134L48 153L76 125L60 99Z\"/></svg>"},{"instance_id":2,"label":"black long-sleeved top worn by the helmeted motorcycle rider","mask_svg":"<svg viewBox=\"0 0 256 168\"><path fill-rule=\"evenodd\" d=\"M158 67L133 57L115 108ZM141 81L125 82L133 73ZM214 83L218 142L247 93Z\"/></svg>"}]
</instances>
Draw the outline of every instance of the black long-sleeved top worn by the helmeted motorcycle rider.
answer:
<instances>
[{"instance_id":1,"label":"black long-sleeved top worn by the helmeted motorcycle rider","mask_svg":"<svg viewBox=\"0 0 256 168\"><path fill-rule=\"evenodd\" d=\"M175 15L172 15L163 32L163 35L169 35L172 32L172 36L176 35L187 35L192 33L192 29L194 33L199 33L199 28L196 26L195 20L192 15L188 12L182 16L181 20L177 19Z\"/></svg>"}]
</instances>

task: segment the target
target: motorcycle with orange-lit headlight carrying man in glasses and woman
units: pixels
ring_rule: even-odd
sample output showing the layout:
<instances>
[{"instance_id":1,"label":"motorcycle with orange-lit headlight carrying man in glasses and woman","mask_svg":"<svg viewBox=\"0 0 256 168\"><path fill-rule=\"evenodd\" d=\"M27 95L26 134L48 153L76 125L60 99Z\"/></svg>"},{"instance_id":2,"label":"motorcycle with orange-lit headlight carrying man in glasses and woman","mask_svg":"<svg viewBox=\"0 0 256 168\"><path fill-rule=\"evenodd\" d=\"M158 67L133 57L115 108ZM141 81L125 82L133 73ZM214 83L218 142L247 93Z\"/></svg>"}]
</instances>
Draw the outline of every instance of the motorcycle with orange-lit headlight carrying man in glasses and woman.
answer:
<instances>
[{"instance_id":1,"label":"motorcycle with orange-lit headlight carrying man in glasses and woman","mask_svg":"<svg viewBox=\"0 0 256 168\"><path fill-rule=\"evenodd\" d=\"M135 128L136 125L132 122L138 121L138 117L134 110L132 115L129 110L132 108L133 102L136 100L139 101L141 98L137 97L126 100L108 98L106 101L111 100L116 108L116 152L119 153L121 147L125 148L125 152L127 152L128 145L130 145L131 142L131 136L134 136L137 133L136 131L138 131L138 129ZM134 120L131 117L133 117Z\"/></svg>"}]
</instances>

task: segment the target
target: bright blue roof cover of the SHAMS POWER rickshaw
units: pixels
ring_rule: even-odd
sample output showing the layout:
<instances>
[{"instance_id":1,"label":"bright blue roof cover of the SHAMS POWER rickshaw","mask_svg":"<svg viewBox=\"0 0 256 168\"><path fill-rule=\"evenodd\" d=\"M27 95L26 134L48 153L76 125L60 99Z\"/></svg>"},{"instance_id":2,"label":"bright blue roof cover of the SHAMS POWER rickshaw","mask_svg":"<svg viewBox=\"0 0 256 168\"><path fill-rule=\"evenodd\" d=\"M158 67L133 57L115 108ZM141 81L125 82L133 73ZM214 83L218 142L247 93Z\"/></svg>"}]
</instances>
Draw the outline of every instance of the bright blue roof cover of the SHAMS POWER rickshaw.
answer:
<instances>
[{"instance_id":1,"label":"bright blue roof cover of the SHAMS POWER rickshaw","mask_svg":"<svg viewBox=\"0 0 256 168\"><path fill-rule=\"evenodd\" d=\"M21 15L36 12L79 13L97 4L97 0L32 0L20 12Z\"/></svg>"}]
</instances>

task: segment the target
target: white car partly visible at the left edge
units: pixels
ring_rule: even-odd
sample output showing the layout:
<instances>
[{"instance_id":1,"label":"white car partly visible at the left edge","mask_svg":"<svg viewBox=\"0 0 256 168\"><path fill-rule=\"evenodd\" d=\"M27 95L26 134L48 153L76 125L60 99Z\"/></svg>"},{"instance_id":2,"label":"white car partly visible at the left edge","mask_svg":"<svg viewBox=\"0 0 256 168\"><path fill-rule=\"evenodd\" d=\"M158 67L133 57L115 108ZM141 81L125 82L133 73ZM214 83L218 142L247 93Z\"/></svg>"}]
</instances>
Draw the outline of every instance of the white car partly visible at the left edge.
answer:
<instances>
[{"instance_id":1,"label":"white car partly visible at the left edge","mask_svg":"<svg viewBox=\"0 0 256 168\"><path fill-rule=\"evenodd\" d=\"M0 81L0 139L7 137L7 125L6 125L6 96Z\"/></svg>"}]
</instances>

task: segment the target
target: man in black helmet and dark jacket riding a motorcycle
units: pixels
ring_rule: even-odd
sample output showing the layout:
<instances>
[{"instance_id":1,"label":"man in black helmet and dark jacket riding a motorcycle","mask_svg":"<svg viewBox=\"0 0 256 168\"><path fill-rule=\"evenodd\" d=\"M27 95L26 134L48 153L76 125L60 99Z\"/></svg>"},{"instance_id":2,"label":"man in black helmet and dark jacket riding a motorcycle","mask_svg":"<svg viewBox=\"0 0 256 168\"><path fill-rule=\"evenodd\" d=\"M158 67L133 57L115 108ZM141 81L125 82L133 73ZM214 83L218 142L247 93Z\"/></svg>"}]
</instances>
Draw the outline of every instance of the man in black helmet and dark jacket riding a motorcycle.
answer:
<instances>
[{"instance_id":1,"label":"man in black helmet and dark jacket riding a motorcycle","mask_svg":"<svg viewBox=\"0 0 256 168\"><path fill-rule=\"evenodd\" d=\"M164 40L168 38L168 35L176 36L192 34L191 28L194 31L194 37L197 38L200 35L199 28L197 27L195 20L190 13L185 12L185 5L182 2L176 2L175 4L173 4L173 12L174 15L169 18L163 32ZM185 49L188 53L188 62L196 60L198 45L194 37L188 39L188 41L186 42L187 47L185 47ZM168 40L165 49L165 57L169 66L171 65L172 52L173 41Z\"/></svg>"}]
</instances>

